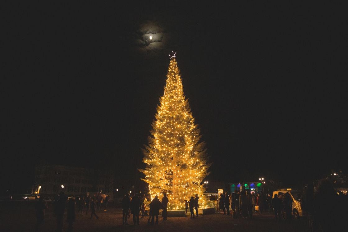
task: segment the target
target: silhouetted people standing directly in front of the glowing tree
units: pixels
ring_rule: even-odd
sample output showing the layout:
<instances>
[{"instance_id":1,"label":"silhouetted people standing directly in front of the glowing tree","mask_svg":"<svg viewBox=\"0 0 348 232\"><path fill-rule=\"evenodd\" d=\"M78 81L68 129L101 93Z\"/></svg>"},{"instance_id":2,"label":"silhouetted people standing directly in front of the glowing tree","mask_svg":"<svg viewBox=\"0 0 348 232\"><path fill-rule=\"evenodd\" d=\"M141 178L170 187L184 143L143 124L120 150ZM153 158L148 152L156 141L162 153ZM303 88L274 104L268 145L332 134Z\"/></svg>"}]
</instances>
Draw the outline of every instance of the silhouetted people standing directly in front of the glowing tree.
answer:
<instances>
[{"instance_id":1,"label":"silhouetted people standing directly in front of the glowing tree","mask_svg":"<svg viewBox=\"0 0 348 232\"><path fill-rule=\"evenodd\" d=\"M195 197L191 197L189 201L185 201L185 217L187 216L187 210L190 209L191 218L198 217L198 208L199 208L199 197L198 194L195 195ZM150 224L158 224L158 216L159 216L159 210L162 209L162 220L167 220L167 207L168 207L169 199L166 195L166 193L163 193L163 198L160 201L158 199L158 195L155 196L155 198L149 203L149 218L148 223ZM129 193L126 193L125 196L122 199L122 224L128 225L127 218L130 217L130 213L133 214L133 224L139 225L139 213L141 212L142 218L145 216L145 209L146 204L148 203L148 200L145 196L145 194L142 197L139 197L137 193L134 194L133 197L130 197ZM195 209L196 215L193 212ZM156 222L155 222L156 217Z\"/></svg>"}]
</instances>

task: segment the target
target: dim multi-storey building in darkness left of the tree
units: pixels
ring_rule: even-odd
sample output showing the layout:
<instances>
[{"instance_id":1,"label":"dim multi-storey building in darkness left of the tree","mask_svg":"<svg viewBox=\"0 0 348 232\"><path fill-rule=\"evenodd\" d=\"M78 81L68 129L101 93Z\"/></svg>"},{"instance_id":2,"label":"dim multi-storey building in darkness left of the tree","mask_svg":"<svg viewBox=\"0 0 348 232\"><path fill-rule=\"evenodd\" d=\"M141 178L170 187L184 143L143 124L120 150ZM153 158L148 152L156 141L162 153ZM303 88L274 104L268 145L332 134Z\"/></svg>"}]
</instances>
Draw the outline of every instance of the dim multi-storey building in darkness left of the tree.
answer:
<instances>
[{"instance_id":1,"label":"dim multi-storey building in darkness left of the tree","mask_svg":"<svg viewBox=\"0 0 348 232\"><path fill-rule=\"evenodd\" d=\"M62 165L35 167L35 182L32 194L85 196L95 193L107 194L113 199L113 174L90 168Z\"/></svg>"}]
</instances>

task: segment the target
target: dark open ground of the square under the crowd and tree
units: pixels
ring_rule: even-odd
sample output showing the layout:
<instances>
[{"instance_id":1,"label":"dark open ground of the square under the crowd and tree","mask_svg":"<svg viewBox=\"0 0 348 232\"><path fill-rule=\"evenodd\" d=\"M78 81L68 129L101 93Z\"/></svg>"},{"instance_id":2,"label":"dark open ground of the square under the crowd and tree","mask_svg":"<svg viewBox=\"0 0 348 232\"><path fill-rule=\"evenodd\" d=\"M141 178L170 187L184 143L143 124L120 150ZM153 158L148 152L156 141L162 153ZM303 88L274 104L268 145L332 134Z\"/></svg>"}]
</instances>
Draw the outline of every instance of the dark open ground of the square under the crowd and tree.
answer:
<instances>
[{"instance_id":1,"label":"dark open ground of the square under the crowd and tree","mask_svg":"<svg viewBox=\"0 0 348 232\"><path fill-rule=\"evenodd\" d=\"M34 231L35 227L35 202L24 201L0 201L0 231ZM73 224L73 231L89 232L89 231L307 231L306 220L294 220L292 223L275 222L274 216L270 214L254 214L254 219L232 219L231 216L222 214L204 215L195 219L184 217L168 218L167 221L159 221L158 225L149 225L148 218L140 219L140 225L133 225L132 217L128 218L129 225L122 226L122 210L119 208L109 208L107 211L97 210L99 216L90 220L90 215L76 216L76 222ZM65 215L66 217L66 215ZM53 217L53 207L49 206L45 221L40 231L54 232L56 221ZM63 231L68 228L68 223L64 222Z\"/></svg>"}]
</instances>

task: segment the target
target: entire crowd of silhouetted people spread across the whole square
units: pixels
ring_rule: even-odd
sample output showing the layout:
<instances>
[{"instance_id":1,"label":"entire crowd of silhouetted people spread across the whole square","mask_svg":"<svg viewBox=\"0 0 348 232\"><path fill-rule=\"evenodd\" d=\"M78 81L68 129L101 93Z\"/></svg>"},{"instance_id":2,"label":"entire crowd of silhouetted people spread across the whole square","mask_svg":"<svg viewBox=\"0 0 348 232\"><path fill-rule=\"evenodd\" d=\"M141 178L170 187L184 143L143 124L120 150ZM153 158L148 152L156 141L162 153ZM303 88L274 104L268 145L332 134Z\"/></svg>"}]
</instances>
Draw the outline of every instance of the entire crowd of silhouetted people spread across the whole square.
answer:
<instances>
[{"instance_id":1,"label":"entire crowd of silhouetted people spread across the whole square","mask_svg":"<svg viewBox=\"0 0 348 232\"><path fill-rule=\"evenodd\" d=\"M158 224L158 217L160 209L162 209L162 220L167 220L168 197L166 193L163 194L160 200L158 195L150 202L150 199L143 194L139 196L137 193L130 196L126 193L122 199L121 206L123 210L122 224L127 225L127 218L133 214L134 225L139 225L139 214L141 218L149 216L148 223ZM68 198L61 192L54 202L54 217L57 220L57 231L63 229L63 215L65 213L66 201ZM73 199L68 201L68 211L66 221L69 223L68 231L72 231L73 222L76 216L87 215L91 213L90 219L93 215L98 219L96 210L101 210L102 206L106 211L108 209L109 196L105 199L101 195L93 195ZM188 217L188 209L190 210L190 218L198 217L199 197L191 197L185 202L185 217ZM242 217L253 218L253 213L259 211L263 214L268 211L275 215L276 221L281 221L285 217L287 222L292 221L293 199L290 193L274 194L273 198L270 194L250 193L249 190L235 191L230 195L228 192L221 193L219 196L219 209L223 211L223 215L232 215L232 218ZM44 222L45 211L48 208L47 202L43 198L39 198L35 205L36 207L36 230ZM146 209L149 208L147 212ZM76 214L77 209L77 214ZM231 212L230 212L231 209ZM342 192L338 192L332 186L332 183L326 179L319 182L316 192L313 185L304 187L301 197L302 214L308 219L309 231L338 231L340 228L347 228L348 216L348 199ZM156 221L155 221L156 218Z\"/></svg>"}]
</instances>

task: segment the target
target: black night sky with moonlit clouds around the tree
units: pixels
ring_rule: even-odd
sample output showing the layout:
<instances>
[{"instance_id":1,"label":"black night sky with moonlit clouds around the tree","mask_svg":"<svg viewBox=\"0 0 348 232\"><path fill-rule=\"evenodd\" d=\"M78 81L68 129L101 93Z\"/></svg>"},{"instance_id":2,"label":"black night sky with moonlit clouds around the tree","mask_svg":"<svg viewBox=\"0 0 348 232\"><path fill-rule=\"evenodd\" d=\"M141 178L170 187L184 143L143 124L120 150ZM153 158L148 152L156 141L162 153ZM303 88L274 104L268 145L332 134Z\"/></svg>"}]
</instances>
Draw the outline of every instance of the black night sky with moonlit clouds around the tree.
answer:
<instances>
[{"instance_id":1,"label":"black night sky with moonlit clouds around the tree","mask_svg":"<svg viewBox=\"0 0 348 232\"><path fill-rule=\"evenodd\" d=\"M208 181L291 187L347 171L347 3L11 4L2 189L29 183L40 160L139 183L172 51L213 162Z\"/></svg>"}]
</instances>

